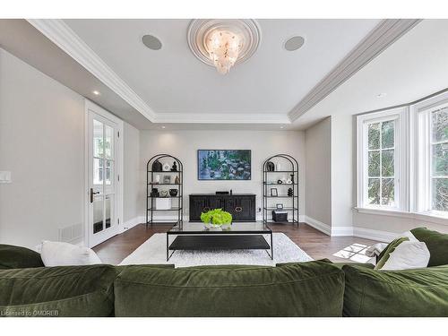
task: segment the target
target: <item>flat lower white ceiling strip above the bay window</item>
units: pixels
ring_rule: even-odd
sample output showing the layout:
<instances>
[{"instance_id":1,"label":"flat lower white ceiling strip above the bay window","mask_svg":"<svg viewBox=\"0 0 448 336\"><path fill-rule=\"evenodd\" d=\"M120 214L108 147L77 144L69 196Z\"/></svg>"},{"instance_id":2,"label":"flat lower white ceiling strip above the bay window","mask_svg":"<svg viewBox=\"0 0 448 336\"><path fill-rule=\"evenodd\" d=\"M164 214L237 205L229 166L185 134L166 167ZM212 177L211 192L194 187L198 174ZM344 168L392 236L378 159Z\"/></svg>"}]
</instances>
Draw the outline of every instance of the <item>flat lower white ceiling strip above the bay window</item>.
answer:
<instances>
[{"instance_id":1,"label":"flat lower white ceiling strip above the bay window","mask_svg":"<svg viewBox=\"0 0 448 336\"><path fill-rule=\"evenodd\" d=\"M299 117L306 129L331 115L407 104L448 88L448 20L424 20ZM378 99L376 96L386 93Z\"/></svg>"}]
</instances>

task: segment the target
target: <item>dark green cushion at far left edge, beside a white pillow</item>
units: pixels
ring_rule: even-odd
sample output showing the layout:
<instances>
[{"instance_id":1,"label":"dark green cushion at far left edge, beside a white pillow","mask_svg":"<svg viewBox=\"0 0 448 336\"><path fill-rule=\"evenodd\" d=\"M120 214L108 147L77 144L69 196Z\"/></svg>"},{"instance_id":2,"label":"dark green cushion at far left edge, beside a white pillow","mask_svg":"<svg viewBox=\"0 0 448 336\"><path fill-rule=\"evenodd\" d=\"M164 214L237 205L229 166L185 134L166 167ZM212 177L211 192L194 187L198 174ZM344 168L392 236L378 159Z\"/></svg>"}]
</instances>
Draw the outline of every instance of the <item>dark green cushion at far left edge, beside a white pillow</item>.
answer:
<instances>
[{"instance_id":1,"label":"dark green cushion at far left edge, beside a white pillow","mask_svg":"<svg viewBox=\"0 0 448 336\"><path fill-rule=\"evenodd\" d=\"M44 267L40 254L26 247L0 244L0 270Z\"/></svg>"}]
</instances>

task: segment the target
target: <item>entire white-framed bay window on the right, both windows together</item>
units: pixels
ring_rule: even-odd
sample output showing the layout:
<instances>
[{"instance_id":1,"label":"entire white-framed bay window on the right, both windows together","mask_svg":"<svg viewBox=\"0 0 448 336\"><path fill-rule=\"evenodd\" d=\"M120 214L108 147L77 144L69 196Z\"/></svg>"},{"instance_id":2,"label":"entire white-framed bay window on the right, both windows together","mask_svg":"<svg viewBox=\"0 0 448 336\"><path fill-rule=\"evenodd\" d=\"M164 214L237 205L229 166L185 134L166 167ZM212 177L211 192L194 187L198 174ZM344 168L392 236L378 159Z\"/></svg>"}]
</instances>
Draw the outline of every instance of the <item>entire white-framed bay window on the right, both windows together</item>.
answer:
<instances>
[{"instance_id":1,"label":"entire white-framed bay window on the right, both windows together","mask_svg":"<svg viewBox=\"0 0 448 336\"><path fill-rule=\"evenodd\" d=\"M448 90L357 120L358 210L448 224Z\"/></svg>"}]
</instances>

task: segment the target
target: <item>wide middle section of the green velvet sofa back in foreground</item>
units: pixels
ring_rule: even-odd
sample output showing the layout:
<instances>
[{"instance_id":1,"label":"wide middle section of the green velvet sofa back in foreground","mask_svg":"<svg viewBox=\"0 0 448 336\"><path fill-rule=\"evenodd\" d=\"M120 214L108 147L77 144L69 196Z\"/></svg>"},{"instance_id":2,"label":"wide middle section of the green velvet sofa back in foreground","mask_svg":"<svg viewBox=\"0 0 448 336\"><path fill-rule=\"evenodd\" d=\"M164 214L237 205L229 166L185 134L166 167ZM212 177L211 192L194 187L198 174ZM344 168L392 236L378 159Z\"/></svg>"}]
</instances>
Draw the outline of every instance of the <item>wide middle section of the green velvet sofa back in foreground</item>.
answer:
<instances>
[{"instance_id":1,"label":"wide middle section of the green velvet sofa back in foreground","mask_svg":"<svg viewBox=\"0 0 448 336\"><path fill-rule=\"evenodd\" d=\"M115 281L116 316L340 316L344 274L316 261L281 267L129 266Z\"/></svg>"}]
</instances>

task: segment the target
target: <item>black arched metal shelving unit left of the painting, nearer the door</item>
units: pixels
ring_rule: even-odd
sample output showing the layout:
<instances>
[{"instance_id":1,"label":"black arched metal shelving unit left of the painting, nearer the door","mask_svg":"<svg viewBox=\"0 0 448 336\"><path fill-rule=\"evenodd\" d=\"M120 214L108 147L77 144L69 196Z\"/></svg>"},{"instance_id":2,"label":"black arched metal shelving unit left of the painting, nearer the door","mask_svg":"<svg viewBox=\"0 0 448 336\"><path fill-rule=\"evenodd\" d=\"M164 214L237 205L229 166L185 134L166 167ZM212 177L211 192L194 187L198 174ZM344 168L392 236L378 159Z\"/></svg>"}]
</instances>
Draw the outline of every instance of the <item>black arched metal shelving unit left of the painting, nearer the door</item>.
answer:
<instances>
[{"instance_id":1,"label":"black arched metal shelving unit left of the painting, nearer the door","mask_svg":"<svg viewBox=\"0 0 448 336\"><path fill-rule=\"evenodd\" d=\"M148 160L146 164L146 227L154 223L172 223L182 226L183 174L184 165L180 159L172 155L158 154ZM164 214L164 211L168 212Z\"/></svg>"}]
</instances>

